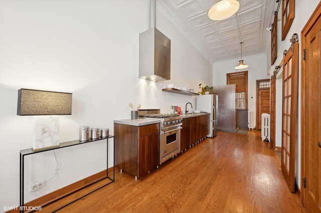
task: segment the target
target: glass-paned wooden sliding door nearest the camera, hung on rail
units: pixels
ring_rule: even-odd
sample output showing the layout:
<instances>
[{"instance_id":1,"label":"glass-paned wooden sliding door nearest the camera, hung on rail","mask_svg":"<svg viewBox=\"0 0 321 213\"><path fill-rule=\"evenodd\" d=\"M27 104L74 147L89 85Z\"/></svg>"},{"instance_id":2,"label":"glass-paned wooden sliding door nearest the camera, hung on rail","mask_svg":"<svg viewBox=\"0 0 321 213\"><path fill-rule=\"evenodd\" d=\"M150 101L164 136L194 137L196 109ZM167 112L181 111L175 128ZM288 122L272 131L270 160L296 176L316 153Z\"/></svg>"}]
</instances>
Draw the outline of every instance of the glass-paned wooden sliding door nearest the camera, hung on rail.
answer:
<instances>
[{"instance_id":1,"label":"glass-paned wooden sliding door nearest the camera, hung on rail","mask_svg":"<svg viewBox=\"0 0 321 213\"><path fill-rule=\"evenodd\" d=\"M294 192L298 88L297 42L292 44L283 60L281 169L290 190Z\"/></svg>"}]
</instances>

